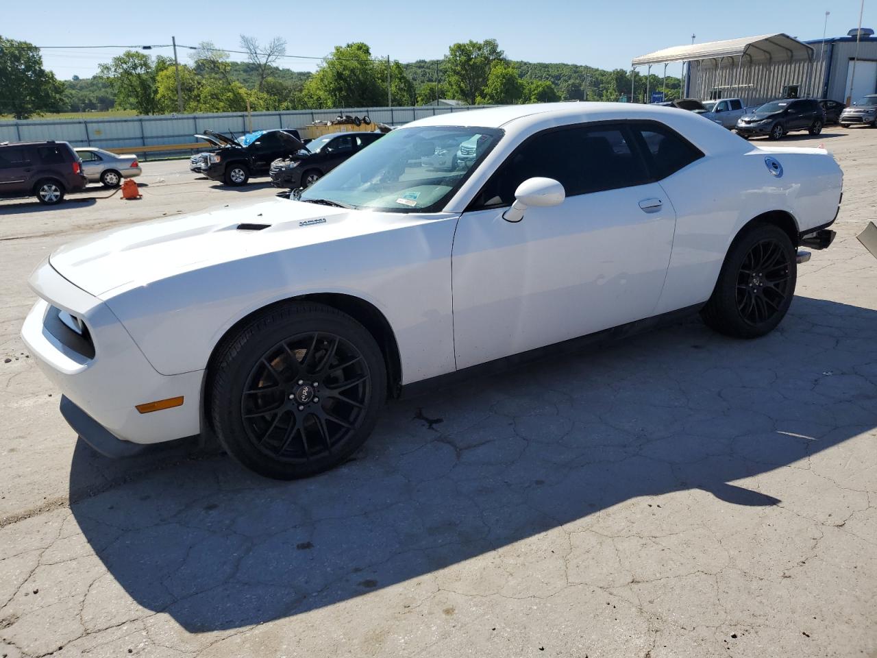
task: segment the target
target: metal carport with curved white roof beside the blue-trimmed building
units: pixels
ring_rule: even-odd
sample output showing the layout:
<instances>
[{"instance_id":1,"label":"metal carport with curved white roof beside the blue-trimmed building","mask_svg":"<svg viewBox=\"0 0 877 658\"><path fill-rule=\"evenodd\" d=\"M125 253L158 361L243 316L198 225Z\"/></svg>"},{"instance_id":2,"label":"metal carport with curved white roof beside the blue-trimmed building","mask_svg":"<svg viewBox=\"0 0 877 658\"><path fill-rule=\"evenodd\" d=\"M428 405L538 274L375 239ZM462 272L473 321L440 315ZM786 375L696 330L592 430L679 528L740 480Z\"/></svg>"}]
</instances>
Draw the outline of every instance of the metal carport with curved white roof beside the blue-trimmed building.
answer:
<instances>
[{"instance_id":1,"label":"metal carport with curved white roof beside the blue-trimmed building","mask_svg":"<svg viewBox=\"0 0 877 658\"><path fill-rule=\"evenodd\" d=\"M761 34L664 48L635 58L631 68L645 66L651 73L655 64L688 62L685 96L741 97L750 105L781 97L789 86L797 86L797 97L812 95L813 81L822 79L815 70L822 62L814 54L788 34Z\"/></svg>"}]
</instances>

